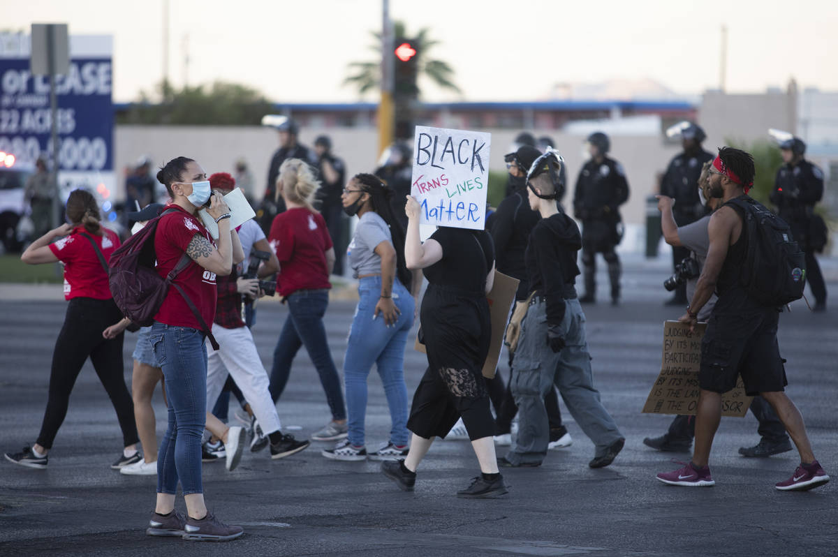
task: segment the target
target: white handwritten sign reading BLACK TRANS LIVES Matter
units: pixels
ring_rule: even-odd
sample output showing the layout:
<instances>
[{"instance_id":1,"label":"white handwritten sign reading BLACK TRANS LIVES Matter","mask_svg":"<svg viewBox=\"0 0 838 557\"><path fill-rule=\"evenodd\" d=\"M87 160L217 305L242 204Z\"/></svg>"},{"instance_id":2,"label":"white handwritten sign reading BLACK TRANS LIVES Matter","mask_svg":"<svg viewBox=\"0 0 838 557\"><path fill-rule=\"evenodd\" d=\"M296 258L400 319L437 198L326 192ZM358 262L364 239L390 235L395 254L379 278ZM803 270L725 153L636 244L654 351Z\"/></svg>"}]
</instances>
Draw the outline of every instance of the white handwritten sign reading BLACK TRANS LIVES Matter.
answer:
<instances>
[{"instance_id":1,"label":"white handwritten sign reading BLACK TRANS LIVES Matter","mask_svg":"<svg viewBox=\"0 0 838 557\"><path fill-rule=\"evenodd\" d=\"M416 126L411 195L420 224L484 230L489 147L484 132Z\"/></svg>"}]
</instances>

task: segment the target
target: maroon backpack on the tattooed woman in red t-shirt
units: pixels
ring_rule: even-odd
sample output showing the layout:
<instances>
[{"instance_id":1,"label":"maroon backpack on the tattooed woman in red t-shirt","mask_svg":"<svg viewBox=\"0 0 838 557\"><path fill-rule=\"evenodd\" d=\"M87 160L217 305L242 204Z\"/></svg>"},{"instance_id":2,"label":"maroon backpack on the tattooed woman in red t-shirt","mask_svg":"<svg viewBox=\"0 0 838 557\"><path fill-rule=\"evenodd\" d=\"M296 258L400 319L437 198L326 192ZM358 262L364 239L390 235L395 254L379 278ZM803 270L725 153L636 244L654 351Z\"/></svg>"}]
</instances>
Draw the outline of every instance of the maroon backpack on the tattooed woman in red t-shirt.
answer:
<instances>
[{"instance_id":1,"label":"maroon backpack on the tattooed woman in red t-shirt","mask_svg":"<svg viewBox=\"0 0 838 557\"><path fill-rule=\"evenodd\" d=\"M204 317L201 317L198 307L195 307L184 289L173 282L180 271L192 261L189 255L181 255L178 264L169 271L165 279L155 269L157 255L154 251L154 236L157 234L158 222L164 214L177 210L166 209L160 216L149 220L142 230L137 231L137 234L132 235L111 254L108 282L113 301L125 317L141 327L148 327L153 324L154 316L163 305L168 287L174 286L198 319L202 332L209 338L209 343L218 350L218 343L204 322Z\"/></svg>"}]
</instances>

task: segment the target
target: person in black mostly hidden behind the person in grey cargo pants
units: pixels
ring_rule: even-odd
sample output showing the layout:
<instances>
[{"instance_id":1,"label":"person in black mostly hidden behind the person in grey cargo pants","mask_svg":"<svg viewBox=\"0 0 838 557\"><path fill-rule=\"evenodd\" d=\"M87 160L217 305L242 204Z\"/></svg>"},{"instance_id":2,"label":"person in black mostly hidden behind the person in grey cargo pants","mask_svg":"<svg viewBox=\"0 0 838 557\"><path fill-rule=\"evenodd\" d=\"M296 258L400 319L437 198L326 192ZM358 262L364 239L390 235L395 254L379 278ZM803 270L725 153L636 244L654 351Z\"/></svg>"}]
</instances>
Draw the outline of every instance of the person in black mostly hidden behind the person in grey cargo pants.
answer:
<instances>
[{"instance_id":1,"label":"person in black mostly hidden behind the person in grey cargo pants","mask_svg":"<svg viewBox=\"0 0 838 557\"><path fill-rule=\"evenodd\" d=\"M498 271L504 275L518 279L518 291L515 292L515 303L525 303L530 295L530 282L527 280L524 252L530 240L535 224L541 219L541 215L530 208L527 200L525 178L535 159L541 156L541 152L535 147L524 145L516 152L510 152L504 158L510 178L520 186L513 189L512 193L500 202L498 210L495 211L492 224L492 240L494 241L495 255L497 256ZM503 379L499 374L489 380L489 395L494 404L494 411L497 415L495 420L495 441L499 445L510 445L510 430L512 420L518 413L518 406L515 405L515 397L512 396L510 385L512 384L512 353L510 353L510 381L504 389ZM502 399L493 391L502 393ZM556 389L550 389L545 397L547 415L550 418L550 442L551 448L569 446L572 443L567 428L561 423L561 410L559 410L559 398L556 396ZM561 442L560 442L561 441Z\"/></svg>"}]
</instances>

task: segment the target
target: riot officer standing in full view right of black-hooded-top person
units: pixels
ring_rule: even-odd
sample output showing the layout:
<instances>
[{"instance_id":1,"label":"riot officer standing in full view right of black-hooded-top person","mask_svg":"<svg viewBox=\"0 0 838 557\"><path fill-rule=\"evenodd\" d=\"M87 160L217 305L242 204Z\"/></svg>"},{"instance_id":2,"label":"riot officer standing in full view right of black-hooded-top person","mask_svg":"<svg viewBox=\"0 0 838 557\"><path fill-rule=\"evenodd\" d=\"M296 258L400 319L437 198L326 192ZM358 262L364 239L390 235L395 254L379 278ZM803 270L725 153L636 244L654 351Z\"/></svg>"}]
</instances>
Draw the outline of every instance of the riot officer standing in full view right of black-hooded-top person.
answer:
<instances>
[{"instance_id":1,"label":"riot officer standing in full view right of black-hooded-top person","mask_svg":"<svg viewBox=\"0 0 838 557\"><path fill-rule=\"evenodd\" d=\"M606 154L611 147L603 132L587 138L591 159L582 167L573 194L573 212L582 220L582 265L585 267L585 295L582 303L596 302L597 253L608 263L611 302L620 298L620 260L614 248L622 239L619 206L629 199L629 183L623 167Z\"/></svg>"}]
</instances>

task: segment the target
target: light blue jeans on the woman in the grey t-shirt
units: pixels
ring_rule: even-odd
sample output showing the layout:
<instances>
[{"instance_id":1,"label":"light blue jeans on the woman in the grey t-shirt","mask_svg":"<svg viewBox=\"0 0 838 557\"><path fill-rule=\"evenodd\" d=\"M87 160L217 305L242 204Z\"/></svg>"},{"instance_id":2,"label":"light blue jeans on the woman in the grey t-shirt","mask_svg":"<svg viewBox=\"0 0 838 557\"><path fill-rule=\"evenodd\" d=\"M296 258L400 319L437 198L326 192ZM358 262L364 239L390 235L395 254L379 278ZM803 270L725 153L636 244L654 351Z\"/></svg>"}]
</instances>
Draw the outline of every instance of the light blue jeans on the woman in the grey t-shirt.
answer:
<instances>
[{"instance_id":1,"label":"light blue jeans on the woman in the grey t-shirt","mask_svg":"<svg viewBox=\"0 0 838 557\"><path fill-rule=\"evenodd\" d=\"M375 315L381 293L381 277L368 276L358 286L360 302L349 329L349 346L344 357L344 384L349 410L349 442L364 445L364 420L367 401L367 375L376 364L387 406L390 408L390 441L407 444L407 387L405 386L405 345L413 325L414 301L401 283L393 281L393 302L401 312L398 321L387 327L384 317Z\"/></svg>"}]
</instances>

